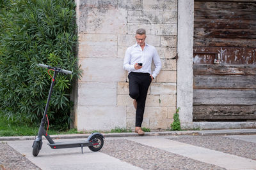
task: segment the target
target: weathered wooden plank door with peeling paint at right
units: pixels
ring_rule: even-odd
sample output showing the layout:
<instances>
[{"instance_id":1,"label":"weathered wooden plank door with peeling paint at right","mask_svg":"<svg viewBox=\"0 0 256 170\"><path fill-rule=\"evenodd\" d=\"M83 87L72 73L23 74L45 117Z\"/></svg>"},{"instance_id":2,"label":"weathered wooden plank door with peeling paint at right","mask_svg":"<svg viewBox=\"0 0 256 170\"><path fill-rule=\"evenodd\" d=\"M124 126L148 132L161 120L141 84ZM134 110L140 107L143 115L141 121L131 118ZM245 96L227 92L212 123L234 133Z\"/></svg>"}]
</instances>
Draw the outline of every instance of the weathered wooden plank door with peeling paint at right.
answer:
<instances>
[{"instance_id":1,"label":"weathered wooden plank door with peeling paint at right","mask_svg":"<svg viewBox=\"0 0 256 170\"><path fill-rule=\"evenodd\" d=\"M193 120L256 120L256 1L195 1Z\"/></svg>"}]
</instances>

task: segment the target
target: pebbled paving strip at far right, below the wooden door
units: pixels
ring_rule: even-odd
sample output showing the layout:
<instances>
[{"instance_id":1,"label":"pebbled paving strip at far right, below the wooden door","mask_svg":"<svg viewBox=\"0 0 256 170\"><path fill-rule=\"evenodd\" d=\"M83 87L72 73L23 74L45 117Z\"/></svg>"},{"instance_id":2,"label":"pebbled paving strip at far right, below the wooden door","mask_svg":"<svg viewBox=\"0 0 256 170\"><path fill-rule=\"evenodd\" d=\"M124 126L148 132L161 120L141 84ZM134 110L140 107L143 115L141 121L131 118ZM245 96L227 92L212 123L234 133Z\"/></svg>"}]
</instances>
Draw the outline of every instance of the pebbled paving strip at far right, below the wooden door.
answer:
<instances>
[{"instance_id":1,"label":"pebbled paving strip at far right, below the wooden door","mask_svg":"<svg viewBox=\"0 0 256 170\"><path fill-rule=\"evenodd\" d=\"M179 136L169 139L256 160L256 143L252 142L226 138L225 136Z\"/></svg>"}]
</instances>

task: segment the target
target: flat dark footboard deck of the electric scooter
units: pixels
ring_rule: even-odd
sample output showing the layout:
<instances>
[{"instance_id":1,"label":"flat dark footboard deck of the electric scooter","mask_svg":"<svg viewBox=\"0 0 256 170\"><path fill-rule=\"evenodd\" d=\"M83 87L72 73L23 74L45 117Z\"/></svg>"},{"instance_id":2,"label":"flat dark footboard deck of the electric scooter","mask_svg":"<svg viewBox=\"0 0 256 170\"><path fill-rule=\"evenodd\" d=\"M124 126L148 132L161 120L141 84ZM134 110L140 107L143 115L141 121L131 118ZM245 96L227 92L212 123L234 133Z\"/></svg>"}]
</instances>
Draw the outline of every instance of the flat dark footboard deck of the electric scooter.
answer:
<instances>
[{"instance_id":1,"label":"flat dark footboard deck of the electric scooter","mask_svg":"<svg viewBox=\"0 0 256 170\"><path fill-rule=\"evenodd\" d=\"M70 141L70 142L56 142L56 143L47 143L51 146L52 149L61 149L61 148L77 148L83 146L93 146L93 143L90 141Z\"/></svg>"}]
</instances>

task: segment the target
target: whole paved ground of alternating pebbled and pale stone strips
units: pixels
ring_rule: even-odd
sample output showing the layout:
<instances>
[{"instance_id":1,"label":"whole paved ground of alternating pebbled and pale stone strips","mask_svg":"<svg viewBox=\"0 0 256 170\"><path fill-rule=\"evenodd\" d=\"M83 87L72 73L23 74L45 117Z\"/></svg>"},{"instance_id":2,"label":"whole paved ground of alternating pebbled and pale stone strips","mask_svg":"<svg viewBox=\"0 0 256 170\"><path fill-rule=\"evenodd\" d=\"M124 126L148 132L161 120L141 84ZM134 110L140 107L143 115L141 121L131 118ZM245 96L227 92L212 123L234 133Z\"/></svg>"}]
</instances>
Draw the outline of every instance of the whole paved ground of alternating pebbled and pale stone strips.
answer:
<instances>
[{"instance_id":1,"label":"whole paved ground of alternating pebbled and pale stone strips","mask_svg":"<svg viewBox=\"0 0 256 170\"><path fill-rule=\"evenodd\" d=\"M84 136L54 136L54 141ZM84 153L81 148L52 150L44 140L38 157L32 155L35 136L0 138L0 169L256 169L256 129L104 136L102 150L86 147Z\"/></svg>"}]
</instances>

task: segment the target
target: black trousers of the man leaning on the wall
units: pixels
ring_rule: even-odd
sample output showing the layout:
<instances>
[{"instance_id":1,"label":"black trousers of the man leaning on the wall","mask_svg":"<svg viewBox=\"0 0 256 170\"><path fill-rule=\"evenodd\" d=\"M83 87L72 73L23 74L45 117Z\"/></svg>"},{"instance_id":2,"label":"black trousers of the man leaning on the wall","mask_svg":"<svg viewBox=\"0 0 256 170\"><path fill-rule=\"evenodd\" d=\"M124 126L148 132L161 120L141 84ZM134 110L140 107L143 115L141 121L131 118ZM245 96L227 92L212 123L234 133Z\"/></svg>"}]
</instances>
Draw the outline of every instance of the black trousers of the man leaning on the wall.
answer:
<instances>
[{"instance_id":1,"label":"black trousers of the man leaning on the wall","mask_svg":"<svg viewBox=\"0 0 256 170\"><path fill-rule=\"evenodd\" d=\"M137 101L136 127L141 127L145 110L145 103L148 93L148 87L152 81L148 73L131 72L129 78L129 95Z\"/></svg>"}]
</instances>

